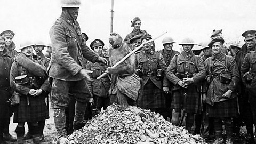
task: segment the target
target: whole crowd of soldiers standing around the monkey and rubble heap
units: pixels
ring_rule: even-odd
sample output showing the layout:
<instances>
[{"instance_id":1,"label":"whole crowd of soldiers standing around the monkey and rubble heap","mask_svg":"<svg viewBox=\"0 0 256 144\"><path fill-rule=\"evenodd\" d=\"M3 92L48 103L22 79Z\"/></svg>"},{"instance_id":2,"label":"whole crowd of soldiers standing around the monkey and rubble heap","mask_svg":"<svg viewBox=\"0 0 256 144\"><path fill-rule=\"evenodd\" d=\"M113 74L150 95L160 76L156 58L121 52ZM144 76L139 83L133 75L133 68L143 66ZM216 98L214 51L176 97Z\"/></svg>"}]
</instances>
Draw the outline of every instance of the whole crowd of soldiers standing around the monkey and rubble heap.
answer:
<instances>
[{"instance_id":1,"label":"whole crowd of soldiers standing around the monkey and rubble heap","mask_svg":"<svg viewBox=\"0 0 256 144\"><path fill-rule=\"evenodd\" d=\"M108 74L98 79L109 69L109 58L103 51L105 44L95 39L90 48L86 45L88 36L76 21L79 0L61 3L62 13L50 29L51 45L24 41L18 53L12 42L13 31L0 34L0 143L43 140L45 119L49 118L45 102L48 95L54 104L59 143L64 143L73 130L81 129L85 119L113 102L118 103L113 99L118 94L118 85L111 84L113 77ZM200 134L201 125L207 120L208 137L215 144L224 141L222 125L226 143L233 143L233 136L239 135L240 127L246 125L249 142L255 143L256 31L245 31L245 44L239 47L235 43L226 46L222 30L213 30L211 39L197 50L193 50L197 45L193 39L183 39L179 53L172 49L172 37L163 38L164 49L156 51L154 41L146 43L151 35L140 26L140 18L135 17L133 30L123 41L131 50L143 44L134 54L140 90L138 98L129 104L155 111L173 125L185 126L189 133L195 123L194 134ZM18 123L17 139L9 133L13 113L13 122ZM25 134L26 122L29 131Z\"/></svg>"}]
</instances>

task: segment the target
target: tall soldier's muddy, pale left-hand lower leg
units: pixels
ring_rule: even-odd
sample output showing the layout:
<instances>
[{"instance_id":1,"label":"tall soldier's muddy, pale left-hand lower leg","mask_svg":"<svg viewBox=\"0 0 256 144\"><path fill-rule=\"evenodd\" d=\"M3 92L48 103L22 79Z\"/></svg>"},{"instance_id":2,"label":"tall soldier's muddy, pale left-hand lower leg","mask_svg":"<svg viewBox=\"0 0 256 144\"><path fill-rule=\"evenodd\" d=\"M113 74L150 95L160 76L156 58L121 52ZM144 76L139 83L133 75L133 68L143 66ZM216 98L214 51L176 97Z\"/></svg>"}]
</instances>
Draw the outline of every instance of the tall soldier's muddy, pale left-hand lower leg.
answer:
<instances>
[{"instance_id":1,"label":"tall soldier's muddy, pale left-hand lower leg","mask_svg":"<svg viewBox=\"0 0 256 144\"><path fill-rule=\"evenodd\" d=\"M67 133L65 130L65 123L66 123L65 108L54 109L53 118L54 118L54 124L55 124L56 130L58 132L58 139L60 139L61 137L66 138Z\"/></svg>"}]
</instances>

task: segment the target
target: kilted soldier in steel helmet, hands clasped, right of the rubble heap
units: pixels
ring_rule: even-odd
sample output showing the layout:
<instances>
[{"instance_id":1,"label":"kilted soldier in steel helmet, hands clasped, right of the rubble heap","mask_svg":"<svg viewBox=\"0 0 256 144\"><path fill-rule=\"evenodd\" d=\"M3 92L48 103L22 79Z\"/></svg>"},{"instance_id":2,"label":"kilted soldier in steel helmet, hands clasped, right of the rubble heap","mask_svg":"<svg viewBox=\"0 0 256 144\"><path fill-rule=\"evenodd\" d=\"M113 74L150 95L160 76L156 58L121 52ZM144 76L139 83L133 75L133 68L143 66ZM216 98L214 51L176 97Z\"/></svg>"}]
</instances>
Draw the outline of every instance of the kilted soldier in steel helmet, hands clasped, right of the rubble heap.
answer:
<instances>
[{"instance_id":1,"label":"kilted soldier in steel helmet, hands clasped, right of the rubble heap","mask_svg":"<svg viewBox=\"0 0 256 144\"><path fill-rule=\"evenodd\" d=\"M187 113L185 128L189 133L194 124L194 114L198 112L199 87L206 75L203 60L192 52L195 44L191 38L183 39L180 45L184 51L173 57L166 72L166 77L174 84L172 123L179 124L179 115L183 109L183 115Z\"/></svg>"}]
</instances>

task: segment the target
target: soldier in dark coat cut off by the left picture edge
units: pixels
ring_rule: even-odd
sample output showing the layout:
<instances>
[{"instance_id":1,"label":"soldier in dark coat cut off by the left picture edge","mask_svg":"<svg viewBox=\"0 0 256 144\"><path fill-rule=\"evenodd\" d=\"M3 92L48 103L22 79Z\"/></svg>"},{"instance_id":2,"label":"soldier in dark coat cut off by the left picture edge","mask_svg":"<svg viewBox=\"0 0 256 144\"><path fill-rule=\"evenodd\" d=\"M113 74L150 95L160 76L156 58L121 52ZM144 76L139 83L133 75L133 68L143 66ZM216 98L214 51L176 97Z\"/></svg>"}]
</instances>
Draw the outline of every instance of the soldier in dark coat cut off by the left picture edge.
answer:
<instances>
[{"instance_id":1,"label":"soldier in dark coat cut off by the left picture edge","mask_svg":"<svg viewBox=\"0 0 256 144\"><path fill-rule=\"evenodd\" d=\"M12 95L10 89L12 58L8 55L9 50L5 49L5 43L5 38L0 36L0 143L3 144L6 143L6 139L3 138L4 127L9 126L10 123L10 109L6 101Z\"/></svg>"}]
</instances>

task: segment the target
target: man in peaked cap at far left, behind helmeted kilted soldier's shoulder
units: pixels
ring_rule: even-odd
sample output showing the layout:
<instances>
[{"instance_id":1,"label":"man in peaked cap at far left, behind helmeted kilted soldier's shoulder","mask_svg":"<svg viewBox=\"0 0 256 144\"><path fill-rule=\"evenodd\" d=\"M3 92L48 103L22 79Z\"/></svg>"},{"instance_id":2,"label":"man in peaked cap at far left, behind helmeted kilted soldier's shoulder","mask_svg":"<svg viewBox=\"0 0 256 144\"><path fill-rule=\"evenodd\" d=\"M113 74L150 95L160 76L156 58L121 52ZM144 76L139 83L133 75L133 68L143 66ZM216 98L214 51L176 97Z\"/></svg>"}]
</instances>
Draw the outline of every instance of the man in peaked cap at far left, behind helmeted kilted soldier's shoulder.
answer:
<instances>
[{"instance_id":1,"label":"man in peaked cap at far left, behind helmeted kilted soldier's shoulder","mask_svg":"<svg viewBox=\"0 0 256 144\"><path fill-rule=\"evenodd\" d=\"M5 30L0 34L0 36L5 37L5 41L6 41L5 48L9 50L8 55L15 60L15 57L17 57L18 52L15 50L16 46L12 41L14 35L15 34L11 30Z\"/></svg>"}]
</instances>

